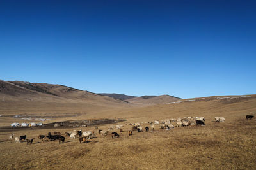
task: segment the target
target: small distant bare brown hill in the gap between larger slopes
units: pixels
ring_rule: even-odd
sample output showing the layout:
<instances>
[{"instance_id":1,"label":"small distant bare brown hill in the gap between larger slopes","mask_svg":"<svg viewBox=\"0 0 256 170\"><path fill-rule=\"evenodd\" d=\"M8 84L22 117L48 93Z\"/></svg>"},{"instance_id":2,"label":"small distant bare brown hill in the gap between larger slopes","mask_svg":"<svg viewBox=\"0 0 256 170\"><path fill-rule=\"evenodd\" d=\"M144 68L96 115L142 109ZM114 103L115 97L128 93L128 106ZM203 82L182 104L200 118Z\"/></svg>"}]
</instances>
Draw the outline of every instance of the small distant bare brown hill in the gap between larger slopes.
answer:
<instances>
[{"instance_id":1,"label":"small distant bare brown hill in the gap between larger slopes","mask_svg":"<svg viewBox=\"0 0 256 170\"><path fill-rule=\"evenodd\" d=\"M134 104L164 104L170 103L173 101L179 101L179 97L169 96L169 95L161 95L161 96L141 96L135 97L132 99L127 99L129 103Z\"/></svg>"}]
</instances>

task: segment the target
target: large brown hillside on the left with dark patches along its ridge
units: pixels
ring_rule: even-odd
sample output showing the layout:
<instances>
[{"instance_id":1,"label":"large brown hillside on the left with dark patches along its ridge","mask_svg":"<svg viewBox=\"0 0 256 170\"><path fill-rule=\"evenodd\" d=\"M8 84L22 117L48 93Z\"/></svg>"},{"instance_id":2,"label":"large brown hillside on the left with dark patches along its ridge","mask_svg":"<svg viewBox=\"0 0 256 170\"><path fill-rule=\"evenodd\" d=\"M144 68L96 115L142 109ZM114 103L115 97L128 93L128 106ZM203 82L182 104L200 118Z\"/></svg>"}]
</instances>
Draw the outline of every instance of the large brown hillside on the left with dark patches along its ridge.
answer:
<instances>
[{"instance_id":1,"label":"large brown hillside on the left with dark patches along its ridge","mask_svg":"<svg viewBox=\"0 0 256 170\"><path fill-rule=\"evenodd\" d=\"M0 113L88 113L131 105L92 92L22 81L0 80Z\"/></svg>"}]
</instances>

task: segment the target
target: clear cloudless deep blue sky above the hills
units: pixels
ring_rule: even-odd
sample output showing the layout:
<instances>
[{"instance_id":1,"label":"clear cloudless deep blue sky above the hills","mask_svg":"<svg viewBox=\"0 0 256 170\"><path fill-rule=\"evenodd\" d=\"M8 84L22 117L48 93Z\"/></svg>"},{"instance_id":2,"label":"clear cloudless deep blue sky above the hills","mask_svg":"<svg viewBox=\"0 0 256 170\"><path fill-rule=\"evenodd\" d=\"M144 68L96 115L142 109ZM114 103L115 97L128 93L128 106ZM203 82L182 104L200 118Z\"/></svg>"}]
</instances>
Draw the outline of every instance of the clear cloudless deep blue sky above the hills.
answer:
<instances>
[{"instance_id":1,"label":"clear cloudless deep blue sky above the hills","mask_svg":"<svg viewBox=\"0 0 256 170\"><path fill-rule=\"evenodd\" d=\"M256 1L0 1L0 79L189 98L256 94Z\"/></svg>"}]
</instances>

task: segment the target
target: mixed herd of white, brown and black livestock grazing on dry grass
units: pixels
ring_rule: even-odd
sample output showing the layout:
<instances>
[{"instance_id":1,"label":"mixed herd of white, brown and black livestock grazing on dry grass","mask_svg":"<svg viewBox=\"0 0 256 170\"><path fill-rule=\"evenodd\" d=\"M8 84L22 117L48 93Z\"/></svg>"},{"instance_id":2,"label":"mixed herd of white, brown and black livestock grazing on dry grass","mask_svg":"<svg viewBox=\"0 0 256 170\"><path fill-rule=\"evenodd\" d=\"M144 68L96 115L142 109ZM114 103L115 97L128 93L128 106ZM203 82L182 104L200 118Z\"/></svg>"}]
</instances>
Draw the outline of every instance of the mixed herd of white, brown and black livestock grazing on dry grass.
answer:
<instances>
[{"instance_id":1,"label":"mixed herd of white, brown and black livestock grazing on dry grass","mask_svg":"<svg viewBox=\"0 0 256 170\"><path fill-rule=\"evenodd\" d=\"M254 116L253 115L246 115L246 119L252 119ZM225 118L224 117L215 117L215 122L225 122ZM155 125L160 125L160 129L166 129L166 130L170 130L173 129L174 127L184 127L184 126L190 126L190 125L205 125L205 118L204 117L184 117L184 118L177 118L177 119L166 119L166 120L155 120L154 122L143 122L143 123L147 123L150 124L149 127L146 126L145 127L145 131L149 131L151 128L151 131L155 130ZM134 123L134 124L129 124L132 126L132 129L130 131L128 131L128 136L132 135L133 131L137 131L137 132L142 132L143 128L141 127L140 123ZM174 126L175 125L175 126ZM116 129L119 129L120 133L123 132L122 129L123 125L119 124L116 125ZM97 131L99 132L99 134L101 134L102 136L105 136L108 134L109 131L114 129L114 125L111 125L107 130L102 130L102 129L98 129L98 127L96 127ZM86 143L88 141L88 139L93 138L95 136L95 132L90 130L90 131L86 131L86 132L82 132L82 130L74 130L72 132L65 132L65 136L61 136L60 132L54 132L53 134L51 134L51 132L48 133L48 135L42 135L40 134L38 136L38 139L42 139L43 142L47 142L47 141L56 141L58 140L59 143L64 143L65 142L65 137L66 138L79 138L79 142L80 143ZM112 132L111 133L111 137L112 138L118 138L119 134L117 132ZM14 134L10 135L9 139L14 139L15 142L20 142L22 141L22 139L24 139L24 141L26 140L27 145L30 143L33 143L33 139L26 139L27 136L20 136L19 137L15 137L14 138Z\"/></svg>"}]
</instances>

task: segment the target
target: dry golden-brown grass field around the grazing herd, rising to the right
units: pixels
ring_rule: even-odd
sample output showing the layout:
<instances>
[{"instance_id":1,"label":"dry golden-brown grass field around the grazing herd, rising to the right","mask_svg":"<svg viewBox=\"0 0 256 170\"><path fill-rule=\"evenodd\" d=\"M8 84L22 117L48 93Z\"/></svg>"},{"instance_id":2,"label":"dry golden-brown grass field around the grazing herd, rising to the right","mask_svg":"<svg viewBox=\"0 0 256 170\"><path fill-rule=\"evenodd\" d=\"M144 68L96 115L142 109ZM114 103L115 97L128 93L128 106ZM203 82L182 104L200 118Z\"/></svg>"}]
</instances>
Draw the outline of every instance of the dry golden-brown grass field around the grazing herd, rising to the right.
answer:
<instances>
[{"instance_id":1,"label":"dry golden-brown grass field around the grazing herd, rising to the right","mask_svg":"<svg viewBox=\"0 0 256 170\"><path fill-rule=\"evenodd\" d=\"M225 96L224 96L225 97ZM79 139L66 138L43 143L37 139L39 134L61 132L74 129L93 130L95 126L77 128L4 128L13 118L0 120L0 168L1 169L255 169L256 168L256 119L246 120L245 115L256 113L256 96L224 98L205 97L195 101L185 101L154 106L108 107L106 110L87 111L83 107L57 108L58 114L81 113L78 117L55 118L49 122L63 120L82 120L88 118L124 118L124 132L113 129L107 136L96 134L88 143ZM79 105L80 106L80 105ZM19 108L16 108L19 110ZM29 108L31 113L42 115L42 108ZM39 110L38 112L36 112ZM56 108L49 105L47 110L54 114ZM68 110L68 111L67 111ZM2 111L3 113L3 111ZM17 112L16 112L17 113ZM48 113L48 114L50 114ZM7 114L7 113L6 113ZM9 113L11 114L11 113ZM57 115L58 115L57 114ZM132 127L130 122L145 123L164 118L205 117L205 126L175 127L170 131L135 132L128 136ZM212 122L214 117L225 117L225 122ZM17 122L17 119L15 119ZM20 121L18 121L20 122ZM108 129L108 125L98 125ZM113 124L115 125L115 124ZM111 138L111 132L118 132L120 138ZM26 134L35 138L31 145L26 142L9 141L9 134Z\"/></svg>"}]
</instances>

